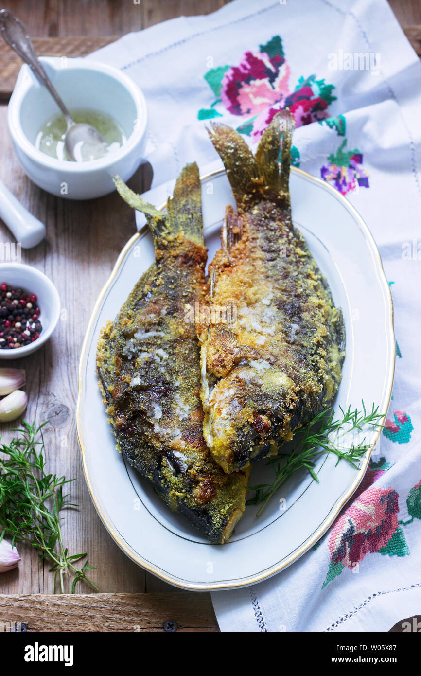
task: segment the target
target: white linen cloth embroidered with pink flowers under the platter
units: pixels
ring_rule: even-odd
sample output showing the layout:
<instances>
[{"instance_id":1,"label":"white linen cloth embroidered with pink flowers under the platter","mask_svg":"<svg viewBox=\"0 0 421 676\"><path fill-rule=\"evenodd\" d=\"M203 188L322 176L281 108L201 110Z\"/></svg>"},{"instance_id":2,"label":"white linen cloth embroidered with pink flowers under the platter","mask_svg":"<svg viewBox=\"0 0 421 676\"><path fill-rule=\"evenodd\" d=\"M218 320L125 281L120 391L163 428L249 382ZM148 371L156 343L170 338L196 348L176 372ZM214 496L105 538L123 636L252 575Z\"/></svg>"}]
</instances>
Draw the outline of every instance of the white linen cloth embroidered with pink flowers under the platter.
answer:
<instances>
[{"instance_id":1,"label":"white linen cloth embroidered with pink flowers under the platter","mask_svg":"<svg viewBox=\"0 0 421 676\"><path fill-rule=\"evenodd\" d=\"M267 581L212 594L220 628L387 631L420 614L421 66L389 5L235 0L91 57L122 68L145 94L146 198L155 204L187 162L220 166L203 120L238 128L255 147L288 105L293 164L360 212L391 284L397 360L380 457L315 548Z\"/></svg>"}]
</instances>

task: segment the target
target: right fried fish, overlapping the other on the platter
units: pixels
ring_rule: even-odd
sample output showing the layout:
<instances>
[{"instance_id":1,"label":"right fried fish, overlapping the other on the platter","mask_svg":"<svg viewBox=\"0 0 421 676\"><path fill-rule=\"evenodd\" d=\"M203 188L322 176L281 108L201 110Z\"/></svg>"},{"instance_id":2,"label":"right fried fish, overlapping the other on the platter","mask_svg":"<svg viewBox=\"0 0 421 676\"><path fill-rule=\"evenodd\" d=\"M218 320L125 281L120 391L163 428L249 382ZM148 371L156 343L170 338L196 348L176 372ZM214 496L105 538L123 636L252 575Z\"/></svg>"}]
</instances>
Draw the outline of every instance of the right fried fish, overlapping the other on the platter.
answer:
<instances>
[{"instance_id":1,"label":"right fried fish, overlapping the other on the platter","mask_svg":"<svg viewBox=\"0 0 421 676\"><path fill-rule=\"evenodd\" d=\"M212 128L238 211L226 210L222 249L209 266L209 311L201 313L197 335L204 435L230 473L276 454L332 402L344 328L326 279L291 222L291 115L276 114L255 157L238 132L224 124Z\"/></svg>"}]
</instances>

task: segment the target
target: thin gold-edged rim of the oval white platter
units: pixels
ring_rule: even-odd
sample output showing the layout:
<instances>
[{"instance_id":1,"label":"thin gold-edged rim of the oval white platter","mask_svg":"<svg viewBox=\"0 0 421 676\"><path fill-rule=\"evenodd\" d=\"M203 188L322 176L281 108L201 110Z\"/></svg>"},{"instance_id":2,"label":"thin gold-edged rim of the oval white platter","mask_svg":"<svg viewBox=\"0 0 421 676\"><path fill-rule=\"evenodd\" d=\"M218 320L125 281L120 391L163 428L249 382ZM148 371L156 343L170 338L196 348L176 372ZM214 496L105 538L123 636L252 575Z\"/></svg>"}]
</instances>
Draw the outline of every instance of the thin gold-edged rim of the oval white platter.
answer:
<instances>
[{"instance_id":1,"label":"thin gold-edged rim of the oval white platter","mask_svg":"<svg viewBox=\"0 0 421 676\"><path fill-rule=\"evenodd\" d=\"M395 372L395 332L393 329L393 302L392 302L392 296L391 296L391 290L389 287L389 283L387 282L386 276L385 276L385 271L383 270L382 266L382 260L380 258L380 253L378 251L377 245L374 241L374 237L370 233L370 230L368 229L368 226L360 216L360 214L357 212L357 210L349 203L349 201L341 194L339 193L335 188L332 186L328 185L324 180L321 178L317 178L316 176L312 176L311 174L308 174L307 172L303 171L302 169L299 169L297 167L291 167L291 171L296 172L298 174L301 174L303 178L306 180L309 180L312 183L318 183L320 184L325 190L330 191L332 196L335 197L335 199L338 199L343 203L345 208L347 209L348 212L351 213L353 216L354 220L359 224L360 229L368 242L370 253L372 254L373 262L374 262L374 268L376 271L376 277L380 283L380 287L382 287L382 290L384 291L385 294L385 301L387 301L387 310L389 312L387 313L387 324L385 327L385 332L386 332L386 339L388 341L387 347L388 347L388 354L387 354L387 364L385 368L385 382L383 385L383 395L382 395L382 401L378 403L378 408L379 410L384 410L385 411L385 416L387 414L387 410L389 408L389 404L391 401L391 394L392 394L392 387L393 387L393 377L394 377L394 372ZM203 174L200 177L201 182L207 180L208 178L215 178L216 176L219 176L220 174L224 174L225 171L224 169L216 169L212 172L208 172L207 174ZM162 206L159 207L159 210L163 210L166 206L166 203L164 203ZM209 227L209 226L208 226ZM374 438L374 441L366 453L366 456L364 456L364 461L362 465L360 466L360 472L355 476L355 479L351 481L350 485L347 487L345 491L345 495L343 496L341 502L339 504L334 504L332 508L330 508L330 511L328 512L327 516L324 518L324 521L320 524L320 527L309 537L307 538L298 548L296 548L289 556L286 556L282 559L282 561L277 562L274 564L269 569L266 569L265 571L262 571L261 573L257 573L253 576L247 577L247 578L242 578L239 580L230 580L230 581L224 581L222 583L220 582L214 582L214 583L195 583L195 582L190 582L187 580L182 580L178 577L175 577L173 575L170 575L169 573L166 573L165 571L162 571L161 569L157 568L150 562L144 560L141 556L133 552L130 547L128 546L128 543L122 538L120 533L116 531L116 528L112 523L109 522L107 516L103 513L103 509L101 508L101 505L99 504L99 500L97 499L97 496L95 495L95 491L93 489L93 485L91 482L91 478L89 477L89 472L87 470L87 458L86 458L86 448L84 445L84 440L83 440L83 435L82 435L82 420L81 420L81 407L82 407L82 386L83 386L83 375L84 375L84 363L85 363L85 356L86 356L86 350L88 349L88 344L89 341L91 340L91 331L93 324L95 322L95 318L97 317L97 313L99 311L99 308L101 307L101 303L103 299L105 298L105 295L107 294L107 291L114 281L114 279L117 276L118 270L120 269L120 266L122 265L122 262L124 262L124 259L126 258L126 254L128 254L128 251L130 251L132 245L136 241L140 241L145 237L147 231L148 231L148 226L145 225L141 230L137 233L135 233L126 245L124 245L122 251L120 252L120 255L118 256L116 260L116 264L114 265L114 268L112 270L111 275L109 276L109 279L107 279L107 282L105 283L103 289L101 290L101 293L99 294L99 297L97 299L97 302L95 303L95 307L93 308L93 312L91 314L91 318L89 320L88 327L86 329L86 334L84 337L84 341L82 343L82 350L80 353L80 361L79 361L79 368L78 368L78 397L76 400L76 433L78 437L78 442L80 445L80 452L82 456L82 468L83 468L83 473L84 473L84 478L86 481L86 485L88 487L89 493L91 495L91 499L93 501L93 504L95 506L95 509L97 510L97 513L99 514L99 517L101 518L101 521L103 522L103 525L105 525L105 528L109 532L109 534L112 536L116 544L120 547L120 549L130 558L132 561L137 563L139 566L141 566L143 569L146 571L149 571L149 573L153 573L153 575L156 575L160 579L176 586L180 587L180 589L187 589L189 591L202 591L202 592L210 592L213 590L217 589L234 589L236 587L245 587L248 585L255 584L257 582L261 582L264 579L267 579L268 577L272 577L272 575L275 575L276 573L279 573L282 571L284 568L287 568L287 566L291 565L293 562L295 562L300 556L302 556L309 548L311 548L317 541L322 537L323 533L332 525L333 521L335 521L335 518L345 505L345 503L351 498L352 494L355 492L357 487L360 485L362 479L364 478L364 474L366 473L366 469L368 467L368 462L370 461L370 457L372 454L372 450L376 446L376 443L378 441L378 438L380 437L381 433L381 427L376 433L376 437ZM206 231L207 228L205 228ZM382 420L384 422L384 418Z\"/></svg>"}]
</instances>

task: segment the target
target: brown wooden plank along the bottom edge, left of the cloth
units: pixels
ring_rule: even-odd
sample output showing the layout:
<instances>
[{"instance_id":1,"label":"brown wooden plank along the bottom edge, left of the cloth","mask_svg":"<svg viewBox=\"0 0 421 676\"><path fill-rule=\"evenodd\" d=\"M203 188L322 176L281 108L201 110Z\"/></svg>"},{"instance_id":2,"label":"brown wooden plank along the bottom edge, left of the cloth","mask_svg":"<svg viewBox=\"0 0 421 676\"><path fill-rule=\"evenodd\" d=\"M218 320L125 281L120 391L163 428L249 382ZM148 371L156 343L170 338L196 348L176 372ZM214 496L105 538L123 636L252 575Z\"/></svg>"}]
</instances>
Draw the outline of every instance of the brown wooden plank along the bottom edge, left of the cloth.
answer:
<instances>
[{"instance_id":1,"label":"brown wooden plank along the bottom edge, left of the cloth","mask_svg":"<svg viewBox=\"0 0 421 676\"><path fill-rule=\"evenodd\" d=\"M168 620L181 632L219 631L208 594L0 596L0 631L23 622L28 632L164 632Z\"/></svg>"}]
</instances>

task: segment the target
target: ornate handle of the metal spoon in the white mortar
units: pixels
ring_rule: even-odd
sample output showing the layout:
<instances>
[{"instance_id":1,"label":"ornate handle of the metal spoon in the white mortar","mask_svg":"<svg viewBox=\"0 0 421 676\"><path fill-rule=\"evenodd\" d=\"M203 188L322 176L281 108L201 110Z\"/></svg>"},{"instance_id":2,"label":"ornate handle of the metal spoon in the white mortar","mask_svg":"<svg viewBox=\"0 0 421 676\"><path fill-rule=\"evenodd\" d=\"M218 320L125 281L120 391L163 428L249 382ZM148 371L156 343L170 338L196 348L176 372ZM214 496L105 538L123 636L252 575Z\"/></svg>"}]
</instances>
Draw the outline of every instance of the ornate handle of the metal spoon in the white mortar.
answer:
<instances>
[{"instance_id":1,"label":"ornate handle of the metal spoon in the white mortar","mask_svg":"<svg viewBox=\"0 0 421 676\"><path fill-rule=\"evenodd\" d=\"M7 45L9 45L9 47L11 47L11 49L13 49L26 64L28 64L32 72L34 72L36 77L40 80L41 84L44 84L44 86L47 87L55 103L57 103L59 109L64 114L67 125L70 126L73 124L73 120L70 117L66 105L61 101L55 87L53 87L53 83L36 56L34 45L32 45L32 41L26 32L24 24L22 24L16 16L13 16L8 9L1 9L0 11L0 32L5 43L7 43Z\"/></svg>"}]
</instances>

